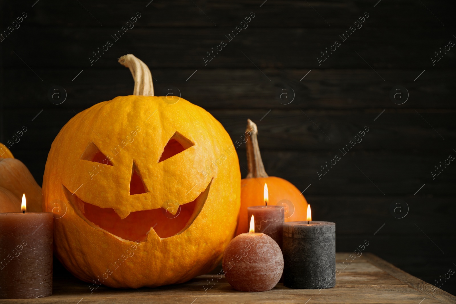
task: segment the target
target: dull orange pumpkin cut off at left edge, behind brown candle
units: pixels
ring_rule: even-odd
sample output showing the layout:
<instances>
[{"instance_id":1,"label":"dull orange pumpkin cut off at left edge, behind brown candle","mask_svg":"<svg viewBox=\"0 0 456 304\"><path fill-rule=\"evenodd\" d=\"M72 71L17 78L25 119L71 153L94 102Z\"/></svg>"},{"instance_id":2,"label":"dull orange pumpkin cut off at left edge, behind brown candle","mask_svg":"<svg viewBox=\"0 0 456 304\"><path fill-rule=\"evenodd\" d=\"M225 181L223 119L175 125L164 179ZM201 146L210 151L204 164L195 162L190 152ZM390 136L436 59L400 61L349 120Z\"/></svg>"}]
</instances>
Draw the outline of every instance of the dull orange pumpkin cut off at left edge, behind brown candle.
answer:
<instances>
[{"instance_id":1,"label":"dull orange pumpkin cut off at left edge, behind brown candle","mask_svg":"<svg viewBox=\"0 0 456 304\"><path fill-rule=\"evenodd\" d=\"M27 211L42 211L41 187L36 183L20 160L0 143L0 212L21 212L21 199L25 193Z\"/></svg>"}]
</instances>

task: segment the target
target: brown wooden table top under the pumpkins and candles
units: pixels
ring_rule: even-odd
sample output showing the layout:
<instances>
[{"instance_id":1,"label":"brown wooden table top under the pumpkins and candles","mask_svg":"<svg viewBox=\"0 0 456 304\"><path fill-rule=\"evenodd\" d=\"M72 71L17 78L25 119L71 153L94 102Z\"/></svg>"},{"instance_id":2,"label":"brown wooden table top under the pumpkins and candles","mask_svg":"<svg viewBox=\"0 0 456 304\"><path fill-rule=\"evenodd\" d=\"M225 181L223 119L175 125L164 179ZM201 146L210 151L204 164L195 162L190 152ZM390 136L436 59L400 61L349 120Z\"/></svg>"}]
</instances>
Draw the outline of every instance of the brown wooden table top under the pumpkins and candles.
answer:
<instances>
[{"instance_id":1,"label":"brown wooden table top under the pumpkins and candles","mask_svg":"<svg viewBox=\"0 0 456 304\"><path fill-rule=\"evenodd\" d=\"M159 288L110 289L99 287L90 293L88 283L74 277L55 278L54 294L39 299L10 299L4 303L456 303L456 296L437 289L371 253L343 263L350 253L336 254L341 272L332 289L289 289L282 283L266 292L248 293L233 289L223 277L206 274L187 283ZM352 256L353 257L353 256ZM350 261L348 259L347 261ZM212 288L208 279L212 280Z\"/></svg>"}]
</instances>

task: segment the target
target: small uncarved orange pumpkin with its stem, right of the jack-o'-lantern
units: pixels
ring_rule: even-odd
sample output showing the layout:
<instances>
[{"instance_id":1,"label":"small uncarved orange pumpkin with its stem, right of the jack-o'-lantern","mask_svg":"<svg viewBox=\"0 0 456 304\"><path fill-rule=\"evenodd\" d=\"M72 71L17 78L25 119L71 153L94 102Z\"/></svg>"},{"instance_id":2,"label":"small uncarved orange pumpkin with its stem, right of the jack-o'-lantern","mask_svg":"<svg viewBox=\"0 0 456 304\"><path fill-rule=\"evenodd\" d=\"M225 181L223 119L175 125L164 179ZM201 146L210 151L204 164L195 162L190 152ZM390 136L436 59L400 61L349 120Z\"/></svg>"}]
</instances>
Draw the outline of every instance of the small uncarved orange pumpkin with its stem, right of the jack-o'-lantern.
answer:
<instances>
[{"instance_id":1,"label":"small uncarved orange pumpkin with its stem, right of the jack-o'-lantern","mask_svg":"<svg viewBox=\"0 0 456 304\"><path fill-rule=\"evenodd\" d=\"M247 207L264 205L264 184L268 184L268 205L283 206L285 222L306 220L307 201L301 191L283 178L266 174L259 152L257 135L257 125L247 119L245 136L249 174L241 180L241 208L236 235L248 232Z\"/></svg>"}]
</instances>

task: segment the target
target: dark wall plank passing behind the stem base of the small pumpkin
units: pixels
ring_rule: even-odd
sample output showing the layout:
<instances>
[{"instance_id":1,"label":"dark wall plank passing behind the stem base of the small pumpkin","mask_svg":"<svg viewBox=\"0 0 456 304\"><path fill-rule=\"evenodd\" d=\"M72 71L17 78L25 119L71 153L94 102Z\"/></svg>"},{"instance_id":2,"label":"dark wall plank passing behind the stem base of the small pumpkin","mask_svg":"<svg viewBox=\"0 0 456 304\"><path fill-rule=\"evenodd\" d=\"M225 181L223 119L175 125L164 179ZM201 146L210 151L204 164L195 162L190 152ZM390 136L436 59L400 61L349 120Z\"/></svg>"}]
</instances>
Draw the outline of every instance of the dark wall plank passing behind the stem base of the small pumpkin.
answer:
<instances>
[{"instance_id":1,"label":"dark wall plank passing behind the stem base of the small pumpkin","mask_svg":"<svg viewBox=\"0 0 456 304\"><path fill-rule=\"evenodd\" d=\"M31 134L32 132L27 134L28 138ZM40 132L37 132L36 136L40 137L40 135ZM44 141L42 137L40 138ZM52 139L48 139L44 143L41 142L40 145L49 147L51 142ZM12 147L13 154L18 155L17 157L26 165L40 164L31 166L32 174L40 183L47 159L47 150L41 150L41 152L34 149L18 150L19 144L21 142ZM306 193L311 195L383 196L384 193L388 196L413 196L423 184L426 184L420 189L418 196L430 194L452 196L455 191L453 185L456 167L448 166L435 177L435 180L431 175L431 171L435 171L434 166L438 165L439 161L445 160L450 153L449 149L430 152L420 150L352 151L347 155L342 155L342 159L323 176L317 172L320 174L324 172L321 166L326 165L326 161L332 160L337 151L302 152L263 149L262 157L269 175L285 178L301 191L312 184L306 190ZM238 156L241 175L244 177L247 175L246 156L242 150L238 151Z\"/></svg>"}]
</instances>

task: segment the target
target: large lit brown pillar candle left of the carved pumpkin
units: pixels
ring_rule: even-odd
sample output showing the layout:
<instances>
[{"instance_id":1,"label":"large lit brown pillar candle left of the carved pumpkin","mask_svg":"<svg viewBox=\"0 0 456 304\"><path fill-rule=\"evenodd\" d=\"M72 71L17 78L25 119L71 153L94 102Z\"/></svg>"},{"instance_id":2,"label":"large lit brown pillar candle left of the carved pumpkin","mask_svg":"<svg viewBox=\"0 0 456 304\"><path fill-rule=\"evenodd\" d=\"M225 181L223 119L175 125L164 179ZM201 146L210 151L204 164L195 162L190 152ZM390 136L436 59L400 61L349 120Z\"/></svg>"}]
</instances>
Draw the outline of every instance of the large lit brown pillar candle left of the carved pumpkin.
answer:
<instances>
[{"instance_id":1,"label":"large lit brown pillar candle left of the carved pumpkin","mask_svg":"<svg viewBox=\"0 0 456 304\"><path fill-rule=\"evenodd\" d=\"M52 294L51 212L0 213L0 299Z\"/></svg>"}]
</instances>

